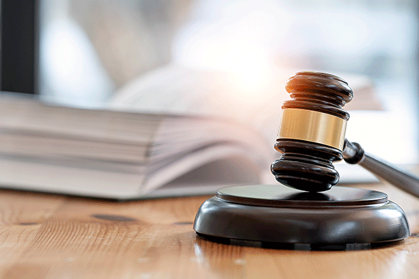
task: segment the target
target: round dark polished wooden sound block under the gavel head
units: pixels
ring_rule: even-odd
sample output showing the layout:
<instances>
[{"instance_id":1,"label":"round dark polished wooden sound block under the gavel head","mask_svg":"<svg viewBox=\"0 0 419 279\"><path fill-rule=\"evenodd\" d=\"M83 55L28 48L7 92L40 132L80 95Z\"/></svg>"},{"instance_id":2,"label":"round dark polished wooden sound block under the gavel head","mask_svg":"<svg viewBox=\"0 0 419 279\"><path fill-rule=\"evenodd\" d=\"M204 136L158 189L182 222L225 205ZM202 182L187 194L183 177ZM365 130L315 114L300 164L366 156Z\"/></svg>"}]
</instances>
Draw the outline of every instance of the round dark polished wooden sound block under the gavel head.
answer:
<instances>
[{"instance_id":1,"label":"round dark polished wooden sound block under the gavel head","mask_svg":"<svg viewBox=\"0 0 419 279\"><path fill-rule=\"evenodd\" d=\"M406 214L385 193L341 186L323 193L281 185L221 188L200 206L193 229L209 239L321 245L410 236Z\"/></svg>"}]
</instances>

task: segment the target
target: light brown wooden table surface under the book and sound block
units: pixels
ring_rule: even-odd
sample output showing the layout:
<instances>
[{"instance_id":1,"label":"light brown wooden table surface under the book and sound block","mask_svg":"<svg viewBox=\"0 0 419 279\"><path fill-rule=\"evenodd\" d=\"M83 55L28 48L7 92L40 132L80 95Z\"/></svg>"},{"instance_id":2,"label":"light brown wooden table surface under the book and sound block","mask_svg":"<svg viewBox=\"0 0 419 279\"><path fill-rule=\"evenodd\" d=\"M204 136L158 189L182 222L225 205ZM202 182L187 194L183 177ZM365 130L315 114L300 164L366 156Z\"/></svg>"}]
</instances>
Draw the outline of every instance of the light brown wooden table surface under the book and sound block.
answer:
<instances>
[{"instance_id":1,"label":"light brown wooden table surface under the book and sound block","mask_svg":"<svg viewBox=\"0 0 419 279\"><path fill-rule=\"evenodd\" d=\"M419 199L383 184L412 236L368 250L213 243L193 220L207 197L110 202L0 190L0 278L419 278Z\"/></svg>"}]
</instances>

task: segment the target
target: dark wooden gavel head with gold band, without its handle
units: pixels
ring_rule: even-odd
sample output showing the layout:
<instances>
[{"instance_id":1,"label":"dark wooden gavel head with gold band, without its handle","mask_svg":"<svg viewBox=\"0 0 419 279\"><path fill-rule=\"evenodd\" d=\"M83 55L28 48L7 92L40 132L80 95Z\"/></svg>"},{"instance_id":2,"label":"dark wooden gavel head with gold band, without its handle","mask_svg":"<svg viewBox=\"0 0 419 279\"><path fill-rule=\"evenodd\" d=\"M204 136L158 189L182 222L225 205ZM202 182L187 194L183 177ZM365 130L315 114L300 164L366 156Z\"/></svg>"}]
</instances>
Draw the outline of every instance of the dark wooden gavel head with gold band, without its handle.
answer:
<instances>
[{"instance_id":1,"label":"dark wooden gavel head with gold band, without its handle","mask_svg":"<svg viewBox=\"0 0 419 279\"><path fill-rule=\"evenodd\" d=\"M332 163L342 160L346 121L342 107L352 100L348 83L335 75L300 72L286 91L274 148L282 153L271 165L277 181L309 192L329 190L339 181Z\"/></svg>"}]
</instances>

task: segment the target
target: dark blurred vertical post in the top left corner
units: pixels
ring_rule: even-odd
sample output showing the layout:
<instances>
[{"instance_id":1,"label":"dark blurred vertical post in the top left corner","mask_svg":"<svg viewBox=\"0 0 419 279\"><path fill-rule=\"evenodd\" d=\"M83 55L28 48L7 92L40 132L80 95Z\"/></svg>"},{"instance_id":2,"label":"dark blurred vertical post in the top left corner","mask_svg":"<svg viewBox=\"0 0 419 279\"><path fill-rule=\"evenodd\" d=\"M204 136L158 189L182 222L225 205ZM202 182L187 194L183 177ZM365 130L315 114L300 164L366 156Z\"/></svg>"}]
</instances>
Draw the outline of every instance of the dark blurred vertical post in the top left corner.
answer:
<instances>
[{"instance_id":1,"label":"dark blurred vertical post in the top left corner","mask_svg":"<svg viewBox=\"0 0 419 279\"><path fill-rule=\"evenodd\" d=\"M1 0L1 91L36 93L38 0Z\"/></svg>"}]
</instances>

